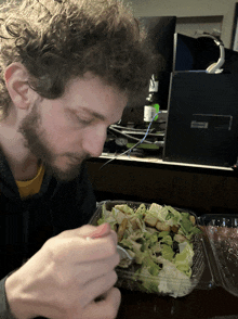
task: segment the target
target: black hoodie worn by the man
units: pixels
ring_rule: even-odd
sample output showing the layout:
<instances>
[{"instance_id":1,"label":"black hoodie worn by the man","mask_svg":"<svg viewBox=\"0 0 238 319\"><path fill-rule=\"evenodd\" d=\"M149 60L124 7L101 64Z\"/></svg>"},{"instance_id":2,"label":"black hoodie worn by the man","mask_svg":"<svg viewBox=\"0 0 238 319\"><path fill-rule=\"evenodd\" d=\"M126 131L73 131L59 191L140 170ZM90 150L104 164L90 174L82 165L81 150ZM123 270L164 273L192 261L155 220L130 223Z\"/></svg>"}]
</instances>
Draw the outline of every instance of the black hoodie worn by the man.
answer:
<instances>
[{"instance_id":1,"label":"black hoodie worn by the man","mask_svg":"<svg viewBox=\"0 0 238 319\"><path fill-rule=\"evenodd\" d=\"M0 319L13 318L5 298L5 279L49 238L88 224L95 208L84 165L70 182L57 182L45 173L40 192L22 200L0 153Z\"/></svg>"}]
</instances>

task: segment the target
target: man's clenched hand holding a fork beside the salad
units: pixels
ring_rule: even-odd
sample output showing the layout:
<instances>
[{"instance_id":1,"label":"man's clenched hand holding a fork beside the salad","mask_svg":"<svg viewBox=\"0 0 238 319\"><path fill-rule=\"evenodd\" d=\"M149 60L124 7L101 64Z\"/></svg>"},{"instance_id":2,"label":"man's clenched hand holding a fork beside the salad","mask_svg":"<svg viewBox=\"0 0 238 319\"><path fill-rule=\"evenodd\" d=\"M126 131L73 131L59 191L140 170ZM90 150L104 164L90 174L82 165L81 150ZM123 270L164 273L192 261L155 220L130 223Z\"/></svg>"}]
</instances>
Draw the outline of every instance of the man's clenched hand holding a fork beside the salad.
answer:
<instances>
[{"instance_id":1,"label":"man's clenched hand holding a fork beside the salad","mask_svg":"<svg viewBox=\"0 0 238 319\"><path fill-rule=\"evenodd\" d=\"M64 231L6 279L11 311L17 319L116 318L118 264L117 234L108 224Z\"/></svg>"}]
</instances>

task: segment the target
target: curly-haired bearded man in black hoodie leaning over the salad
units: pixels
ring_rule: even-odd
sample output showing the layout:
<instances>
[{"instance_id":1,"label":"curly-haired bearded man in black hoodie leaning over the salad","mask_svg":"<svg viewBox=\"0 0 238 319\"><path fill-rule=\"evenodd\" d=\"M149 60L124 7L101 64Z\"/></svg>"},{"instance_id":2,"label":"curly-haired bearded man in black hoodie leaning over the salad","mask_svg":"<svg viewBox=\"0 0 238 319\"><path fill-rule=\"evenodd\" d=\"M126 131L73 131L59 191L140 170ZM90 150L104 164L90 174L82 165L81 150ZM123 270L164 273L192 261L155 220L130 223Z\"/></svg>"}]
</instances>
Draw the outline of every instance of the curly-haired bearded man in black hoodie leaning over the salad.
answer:
<instances>
[{"instance_id":1,"label":"curly-haired bearded man in black hoodie leaning over the salad","mask_svg":"<svg viewBox=\"0 0 238 319\"><path fill-rule=\"evenodd\" d=\"M83 161L147 88L145 36L117 0L10 1L0 18L0 318L115 318L117 235L87 225Z\"/></svg>"}]
</instances>

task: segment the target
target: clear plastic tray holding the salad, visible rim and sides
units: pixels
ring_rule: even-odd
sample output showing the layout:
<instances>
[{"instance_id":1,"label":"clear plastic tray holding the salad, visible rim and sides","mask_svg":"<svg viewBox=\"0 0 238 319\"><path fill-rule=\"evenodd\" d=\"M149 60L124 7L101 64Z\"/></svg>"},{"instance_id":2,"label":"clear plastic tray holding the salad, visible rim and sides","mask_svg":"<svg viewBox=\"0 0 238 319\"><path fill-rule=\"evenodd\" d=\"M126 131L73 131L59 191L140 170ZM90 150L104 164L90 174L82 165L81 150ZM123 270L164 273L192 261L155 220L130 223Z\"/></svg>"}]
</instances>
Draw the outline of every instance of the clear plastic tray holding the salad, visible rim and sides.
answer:
<instances>
[{"instance_id":1,"label":"clear plastic tray holding the salad, visible rim and sides","mask_svg":"<svg viewBox=\"0 0 238 319\"><path fill-rule=\"evenodd\" d=\"M90 224L91 225L97 225L97 220L102 216L102 206L103 204L106 204L106 209L111 210L111 208L115 205L120 205L120 204L127 204L132 208L137 208L142 203L137 202L125 202L125 201L105 201L101 202L94 216L91 218ZM145 204L146 207L149 207L150 204ZM174 207L175 208L175 207ZM178 209L175 208L178 212L187 212L190 215L194 215L196 218L196 221L198 224L197 216L193 212L188 212L186 209ZM172 291L170 292L158 292L159 295L170 295L173 297L182 297L187 294L189 294L196 286L199 285L200 279L202 277L204 267L206 267L206 256L204 256L204 251L203 251L203 244L202 244L202 237L196 235L194 239L194 258L193 258L193 275L190 280L184 280L184 279L178 279L177 277L171 277L170 278L163 278L164 284L168 284L169 286L173 286ZM135 277L135 270L136 267L140 267L137 265L131 265L129 268L116 268L117 275L118 275L118 281L117 281L117 286L119 288L124 288L128 290L136 290L136 291L143 291L147 292L147 290L142 286L142 282L146 280L147 283L158 283L158 277L154 276L142 276L142 275L136 275ZM208 282L207 282L208 284Z\"/></svg>"}]
</instances>

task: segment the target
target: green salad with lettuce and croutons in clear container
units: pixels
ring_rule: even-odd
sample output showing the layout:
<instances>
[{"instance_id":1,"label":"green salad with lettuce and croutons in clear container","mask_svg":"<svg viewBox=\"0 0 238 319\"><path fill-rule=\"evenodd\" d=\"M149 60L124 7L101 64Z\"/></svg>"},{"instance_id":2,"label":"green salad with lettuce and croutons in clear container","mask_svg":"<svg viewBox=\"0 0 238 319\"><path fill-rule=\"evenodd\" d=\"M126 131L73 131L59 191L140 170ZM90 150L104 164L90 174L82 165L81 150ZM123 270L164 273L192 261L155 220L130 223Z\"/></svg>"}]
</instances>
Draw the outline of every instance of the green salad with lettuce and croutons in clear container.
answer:
<instances>
[{"instance_id":1,"label":"green salad with lettuce and croutons in clear container","mask_svg":"<svg viewBox=\"0 0 238 319\"><path fill-rule=\"evenodd\" d=\"M156 203L135 209L115 205L111 210L104 204L97 224L104 222L117 232L118 244L134 258L133 277L143 291L176 297L190 290L193 239L201 233L194 215Z\"/></svg>"}]
</instances>

